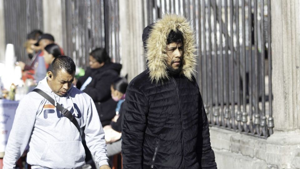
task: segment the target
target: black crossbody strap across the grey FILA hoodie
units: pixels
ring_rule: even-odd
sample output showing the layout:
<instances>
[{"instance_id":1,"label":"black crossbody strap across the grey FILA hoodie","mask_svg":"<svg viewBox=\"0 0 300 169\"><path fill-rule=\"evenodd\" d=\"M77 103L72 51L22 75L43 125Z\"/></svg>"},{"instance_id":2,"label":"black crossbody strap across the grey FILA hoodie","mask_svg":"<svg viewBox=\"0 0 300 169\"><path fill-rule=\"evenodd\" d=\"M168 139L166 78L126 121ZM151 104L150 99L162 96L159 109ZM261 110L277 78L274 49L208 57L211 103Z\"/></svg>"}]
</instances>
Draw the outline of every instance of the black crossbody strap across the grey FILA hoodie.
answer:
<instances>
[{"instance_id":1,"label":"black crossbody strap across the grey FILA hoodie","mask_svg":"<svg viewBox=\"0 0 300 169\"><path fill-rule=\"evenodd\" d=\"M40 89L34 89L32 90L34 92L37 92L38 94L42 95L45 99L47 99L52 105L55 106L55 101L54 99L52 99L52 97L50 97L49 95L47 95L47 93L45 93L44 91L40 90ZM80 133L81 136L81 132L80 132L80 127L78 122L76 121L76 119L74 118L74 116L72 115L72 113L68 110L65 109L62 105L60 105L59 103L57 103L56 108L64 115L66 116L77 128L77 130ZM75 110L74 110L75 111Z\"/></svg>"}]
</instances>

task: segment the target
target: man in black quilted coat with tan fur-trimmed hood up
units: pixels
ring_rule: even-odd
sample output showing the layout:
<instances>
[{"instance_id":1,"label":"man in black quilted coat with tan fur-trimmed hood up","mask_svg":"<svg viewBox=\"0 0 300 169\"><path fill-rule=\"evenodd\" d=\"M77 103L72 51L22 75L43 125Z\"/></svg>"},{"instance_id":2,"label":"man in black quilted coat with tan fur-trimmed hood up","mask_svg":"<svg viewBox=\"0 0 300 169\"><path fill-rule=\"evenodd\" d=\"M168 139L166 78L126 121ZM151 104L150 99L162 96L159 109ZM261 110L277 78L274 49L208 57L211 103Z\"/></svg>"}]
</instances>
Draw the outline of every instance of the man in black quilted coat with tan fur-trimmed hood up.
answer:
<instances>
[{"instance_id":1,"label":"man in black quilted coat with tan fur-trimmed hood up","mask_svg":"<svg viewBox=\"0 0 300 169\"><path fill-rule=\"evenodd\" d=\"M195 40L177 15L144 29L147 67L128 85L122 119L124 169L217 168L193 76Z\"/></svg>"}]
</instances>

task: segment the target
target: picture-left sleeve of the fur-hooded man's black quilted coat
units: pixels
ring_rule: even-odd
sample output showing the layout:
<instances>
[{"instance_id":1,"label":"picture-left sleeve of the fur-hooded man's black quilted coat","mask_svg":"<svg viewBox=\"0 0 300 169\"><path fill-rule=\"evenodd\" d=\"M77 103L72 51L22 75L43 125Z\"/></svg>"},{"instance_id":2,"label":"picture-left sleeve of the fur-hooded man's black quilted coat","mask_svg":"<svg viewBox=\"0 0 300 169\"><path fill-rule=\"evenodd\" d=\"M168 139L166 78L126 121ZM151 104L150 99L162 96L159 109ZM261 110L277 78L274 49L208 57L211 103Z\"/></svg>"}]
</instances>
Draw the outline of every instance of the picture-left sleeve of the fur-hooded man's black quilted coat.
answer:
<instances>
[{"instance_id":1,"label":"picture-left sleeve of the fur-hooded man's black quilted coat","mask_svg":"<svg viewBox=\"0 0 300 169\"><path fill-rule=\"evenodd\" d=\"M122 115L123 169L143 168L147 115L148 100L141 90L129 84Z\"/></svg>"}]
</instances>

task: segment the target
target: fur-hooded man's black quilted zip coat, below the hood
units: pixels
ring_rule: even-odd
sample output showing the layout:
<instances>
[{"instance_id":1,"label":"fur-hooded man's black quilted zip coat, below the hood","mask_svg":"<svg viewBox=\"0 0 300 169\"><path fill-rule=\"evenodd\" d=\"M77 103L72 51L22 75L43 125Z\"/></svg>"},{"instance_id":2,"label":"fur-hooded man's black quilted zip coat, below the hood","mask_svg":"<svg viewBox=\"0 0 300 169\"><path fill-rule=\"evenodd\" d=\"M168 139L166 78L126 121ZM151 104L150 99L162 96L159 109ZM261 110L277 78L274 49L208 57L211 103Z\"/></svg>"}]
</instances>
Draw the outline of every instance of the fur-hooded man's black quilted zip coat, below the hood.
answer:
<instances>
[{"instance_id":1,"label":"fur-hooded man's black quilted zip coat, below the hood","mask_svg":"<svg viewBox=\"0 0 300 169\"><path fill-rule=\"evenodd\" d=\"M217 168L196 80L152 83L149 70L128 85L122 119L124 169Z\"/></svg>"}]
</instances>

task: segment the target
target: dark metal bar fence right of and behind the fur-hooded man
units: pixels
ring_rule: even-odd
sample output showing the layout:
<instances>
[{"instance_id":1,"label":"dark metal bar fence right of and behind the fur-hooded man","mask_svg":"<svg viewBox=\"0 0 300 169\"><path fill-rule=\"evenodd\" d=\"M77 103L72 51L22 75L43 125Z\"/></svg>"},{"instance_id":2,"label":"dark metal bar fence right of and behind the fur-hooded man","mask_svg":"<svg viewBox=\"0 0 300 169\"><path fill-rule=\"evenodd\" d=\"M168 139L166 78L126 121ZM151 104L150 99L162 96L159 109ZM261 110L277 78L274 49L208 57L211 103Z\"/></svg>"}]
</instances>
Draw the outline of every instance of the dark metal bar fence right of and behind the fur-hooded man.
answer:
<instances>
[{"instance_id":1,"label":"dark metal bar fence right of and behind the fur-hooded man","mask_svg":"<svg viewBox=\"0 0 300 169\"><path fill-rule=\"evenodd\" d=\"M165 13L190 20L199 49L197 80L210 125L270 136L270 0L141 1L143 28Z\"/></svg>"}]
</instances>

